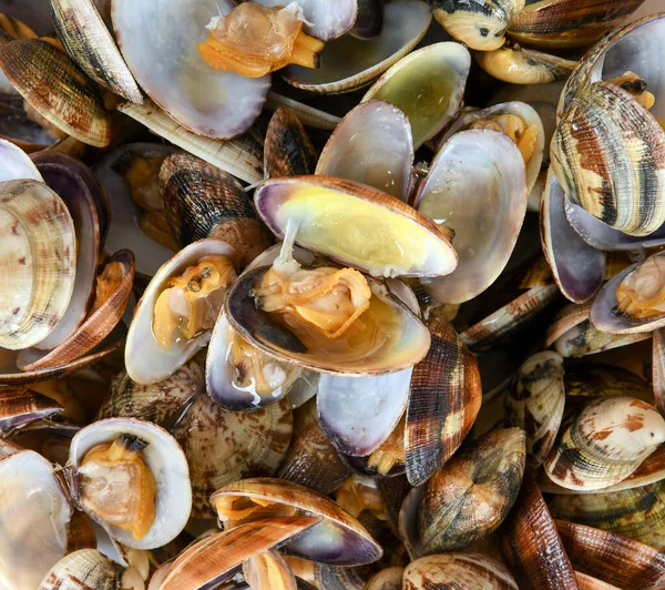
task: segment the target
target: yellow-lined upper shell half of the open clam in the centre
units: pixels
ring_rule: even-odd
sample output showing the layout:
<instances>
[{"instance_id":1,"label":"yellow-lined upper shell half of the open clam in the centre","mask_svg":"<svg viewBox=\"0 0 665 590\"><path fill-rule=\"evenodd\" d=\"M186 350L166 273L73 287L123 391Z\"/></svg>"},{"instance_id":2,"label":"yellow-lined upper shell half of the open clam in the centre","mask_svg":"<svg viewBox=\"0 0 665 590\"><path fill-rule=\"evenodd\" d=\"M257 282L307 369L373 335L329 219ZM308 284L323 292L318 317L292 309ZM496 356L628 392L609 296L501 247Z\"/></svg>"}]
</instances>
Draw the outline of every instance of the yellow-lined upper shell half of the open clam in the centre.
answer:
<instances>
[{"instance_id":1,"label":"yellow-lined upper shell half of the open clam in the centre","mask_svg":"<svg viewBox=\"0 0 665 590\"><path fill-rule=\"evenodd\" d=\"M256 190L254 201L277 237L284 237L290 221L298 227L296 244L374 276L442 276L457 265L454 250L433 222L357 182L272 179Z\"/></svg>"}]
</instances>

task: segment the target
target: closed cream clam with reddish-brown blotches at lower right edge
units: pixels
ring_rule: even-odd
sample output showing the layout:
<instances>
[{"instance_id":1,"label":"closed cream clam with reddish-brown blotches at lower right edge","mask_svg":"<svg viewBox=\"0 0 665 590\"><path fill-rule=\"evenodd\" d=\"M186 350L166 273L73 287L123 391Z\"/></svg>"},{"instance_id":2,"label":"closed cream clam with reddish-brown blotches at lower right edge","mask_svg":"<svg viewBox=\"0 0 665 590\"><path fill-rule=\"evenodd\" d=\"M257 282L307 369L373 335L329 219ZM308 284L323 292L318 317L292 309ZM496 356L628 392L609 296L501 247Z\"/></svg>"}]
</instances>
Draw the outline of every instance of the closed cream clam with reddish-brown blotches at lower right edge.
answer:
<instances>
[{"instance_id":1,"label":"closed cream clam with reddish-brown blotches at lower right edge","mask_svg":"<svg viewBox=\"0 0 665 590\"><path fill-rule=\"evenodd\" d=\"M630 476L664 440L665 420L649 404L631 397L596 399L563 433L545 471L570 489L602 489Z\"/></svg>"}]
</instances>

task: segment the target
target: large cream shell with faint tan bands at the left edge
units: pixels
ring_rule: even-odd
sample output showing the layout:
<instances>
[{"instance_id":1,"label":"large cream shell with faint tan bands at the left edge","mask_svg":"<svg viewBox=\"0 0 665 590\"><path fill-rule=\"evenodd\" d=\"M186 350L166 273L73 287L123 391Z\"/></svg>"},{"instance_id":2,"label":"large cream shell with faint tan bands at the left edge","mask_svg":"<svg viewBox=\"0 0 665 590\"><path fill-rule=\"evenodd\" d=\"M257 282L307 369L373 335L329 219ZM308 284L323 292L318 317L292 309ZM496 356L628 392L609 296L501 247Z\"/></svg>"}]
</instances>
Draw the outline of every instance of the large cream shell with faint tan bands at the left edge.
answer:
<instances>
[{"instance_id":1,"label":"large cream shell with faint tan bands at the left edge","mask_svg":"<svg viewBox=\"0 0 665 590\"><path fill-rule=\"evenodd\" d=\"M20 349L48 336L74 287L75 234L62 200L42 182L0 184L0 346Z\"/></svg>"}]
</instances>

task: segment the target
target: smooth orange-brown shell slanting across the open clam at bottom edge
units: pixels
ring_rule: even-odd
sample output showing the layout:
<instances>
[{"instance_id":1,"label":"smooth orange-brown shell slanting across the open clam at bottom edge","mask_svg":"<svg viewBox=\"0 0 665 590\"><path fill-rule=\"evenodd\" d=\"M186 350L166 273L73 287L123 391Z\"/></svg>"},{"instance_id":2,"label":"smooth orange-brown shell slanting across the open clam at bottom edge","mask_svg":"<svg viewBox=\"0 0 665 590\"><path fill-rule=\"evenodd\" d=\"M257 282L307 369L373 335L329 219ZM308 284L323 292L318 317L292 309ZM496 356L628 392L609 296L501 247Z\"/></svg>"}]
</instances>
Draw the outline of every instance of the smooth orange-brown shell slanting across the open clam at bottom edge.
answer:
<instances>
[{"instance_id":1,"label":"smooth orange-brown shell slanting across the open clam at bottom edge","mask_svg":"<svg viewBox=\"0 0 665 590\"><path fill-rule=\"evenodd\" d=\"M310 517L268 518L217 532L183 551L168 569L160 590L212 588L234 574L247 559L283 543L316 525Z\"/></svg>"}]
</instances>

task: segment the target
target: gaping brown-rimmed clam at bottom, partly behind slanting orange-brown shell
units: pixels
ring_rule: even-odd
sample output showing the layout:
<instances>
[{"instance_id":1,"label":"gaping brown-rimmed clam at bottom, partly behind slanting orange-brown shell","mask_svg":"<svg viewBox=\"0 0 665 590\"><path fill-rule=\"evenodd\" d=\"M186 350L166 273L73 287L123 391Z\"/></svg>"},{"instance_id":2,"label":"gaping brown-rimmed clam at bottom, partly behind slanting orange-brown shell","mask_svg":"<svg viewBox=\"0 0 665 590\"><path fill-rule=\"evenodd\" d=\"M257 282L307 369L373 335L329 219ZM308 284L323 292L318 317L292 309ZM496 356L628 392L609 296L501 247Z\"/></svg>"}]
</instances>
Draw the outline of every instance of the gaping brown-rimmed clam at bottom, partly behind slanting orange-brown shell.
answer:
<instances>
[{"instance_id":1,"label":"gaping brown-rimmed clam at bottom, partly behind slanting orange-brown shell","mask_svg":"<svg viewBox=\"0 0 665 590\"><path fill-rule=\"evenodd\" d=\"M321 521L286 546L295 556L336 566L371 563L381 548L369 532L332 500L290 481L245 479L217 490L211 502L225 528L272 516L308 513Z\"/></svg>"}]
</instances>

